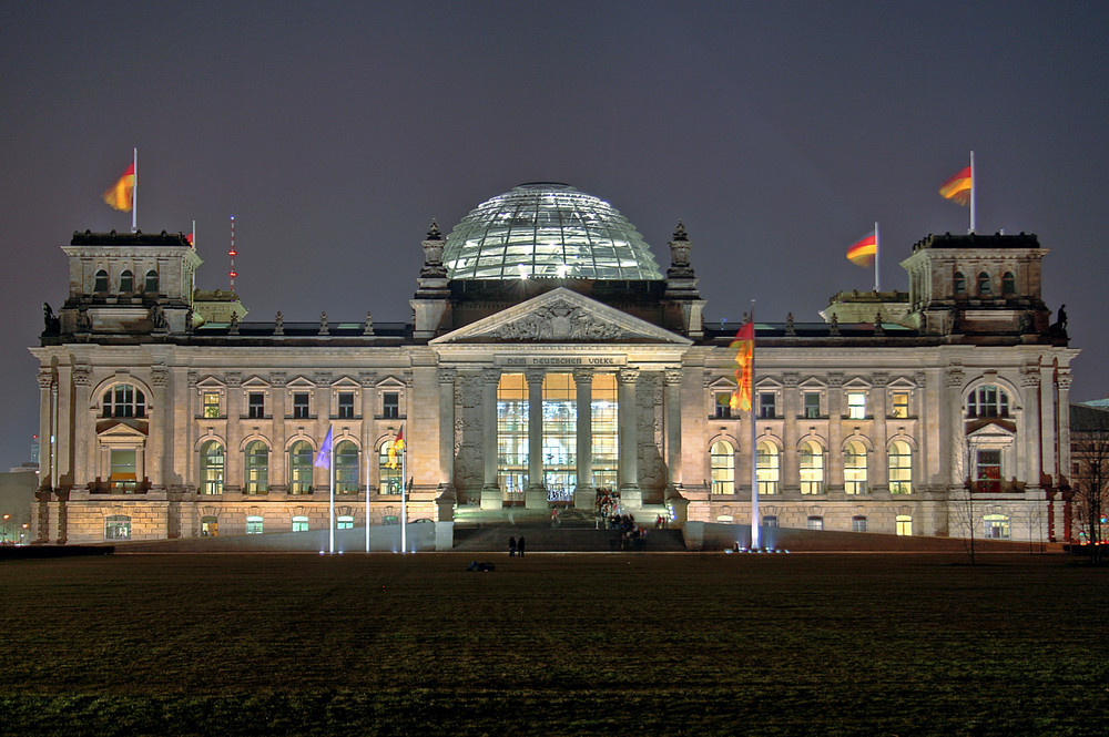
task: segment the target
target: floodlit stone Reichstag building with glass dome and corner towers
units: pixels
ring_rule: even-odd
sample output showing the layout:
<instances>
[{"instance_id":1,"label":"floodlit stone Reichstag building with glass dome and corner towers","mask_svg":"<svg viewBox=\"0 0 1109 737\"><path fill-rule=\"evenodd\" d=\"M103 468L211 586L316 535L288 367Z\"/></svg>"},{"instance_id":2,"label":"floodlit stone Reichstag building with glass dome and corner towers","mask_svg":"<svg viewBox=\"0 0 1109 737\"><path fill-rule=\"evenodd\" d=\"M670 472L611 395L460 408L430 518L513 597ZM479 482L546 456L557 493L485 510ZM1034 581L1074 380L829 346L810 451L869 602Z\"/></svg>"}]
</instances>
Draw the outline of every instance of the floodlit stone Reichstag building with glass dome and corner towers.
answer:
<instances>
[{"instance_id":1,"label":"floodlit stone Reichstag building with glass dome and corner towers","mask_svg":"<svg viewBox=\"0 0 1109 737\"><path fill-rule=\"evenodd\" d=\"M1035 235L928 236L907 293L757 323L753 412L731 407L736 326L705 323L682 224L663 269L609 203L532 183L421 245L410 323L306 324L197 290L179 234L75 233L31 348L53 439L32 538L327 529L329 427L340 529L395 522L403 484L409 519L606 499L746 524L754 479L766 526L1069 536L1078 351Z\"/></svg>"}]
</instances>

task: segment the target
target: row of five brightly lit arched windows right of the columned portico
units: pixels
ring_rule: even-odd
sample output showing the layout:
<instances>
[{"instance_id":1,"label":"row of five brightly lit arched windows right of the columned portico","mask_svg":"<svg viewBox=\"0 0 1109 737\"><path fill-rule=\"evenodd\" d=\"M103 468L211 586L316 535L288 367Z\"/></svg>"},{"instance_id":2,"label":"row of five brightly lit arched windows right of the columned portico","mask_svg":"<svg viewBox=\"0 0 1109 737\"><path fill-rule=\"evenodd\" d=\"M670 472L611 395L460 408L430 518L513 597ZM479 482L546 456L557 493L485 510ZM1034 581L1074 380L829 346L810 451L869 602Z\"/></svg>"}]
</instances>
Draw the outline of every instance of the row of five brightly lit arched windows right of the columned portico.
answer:
<instances>
[{"instance_id":1,"label":"row of five brightly lit arched windows right of the columned portico","mask_svg":"<svg viewBox=\"0 0 1109 737\"><path fill-rule=\"evenodd\" d=\"M726 440L713 443L710 451L712 467L712 493L735 493L735 448ZM801 443L797 451L797 467L802 494L827 492L826 453L813 440ZM889 492L908 494L913 492L913 449L904 440L889 443L886 455ZM777 446L760 442L755 454L755 479L760 494L781 493L782 458ZM843 490L847 494L869 492L867 482L866 446L857 440L847 442L843 453Z\"/></svg>"}]
</instances>

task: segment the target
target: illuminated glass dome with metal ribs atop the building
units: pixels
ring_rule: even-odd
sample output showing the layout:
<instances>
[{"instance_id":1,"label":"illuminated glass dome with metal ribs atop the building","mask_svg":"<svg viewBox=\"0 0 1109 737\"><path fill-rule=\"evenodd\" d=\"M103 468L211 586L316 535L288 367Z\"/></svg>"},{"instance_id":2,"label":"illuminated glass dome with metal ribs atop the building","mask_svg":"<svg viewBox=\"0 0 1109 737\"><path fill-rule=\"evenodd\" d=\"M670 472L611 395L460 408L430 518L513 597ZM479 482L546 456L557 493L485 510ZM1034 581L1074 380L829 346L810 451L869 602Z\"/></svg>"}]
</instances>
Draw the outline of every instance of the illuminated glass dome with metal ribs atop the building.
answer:
<instances>
[{"instance_id":1,"label":"illuminated glass dome with metal ribs atop the building","mask_svg":"<svg viewBox=\"0 0 1109 737\"><path fill-rule=\"evenodd\" d=\"M488 199L447 236L451 279L662 279L615 207L567 184L533 182Z\"/></svg>"}]
</instances>

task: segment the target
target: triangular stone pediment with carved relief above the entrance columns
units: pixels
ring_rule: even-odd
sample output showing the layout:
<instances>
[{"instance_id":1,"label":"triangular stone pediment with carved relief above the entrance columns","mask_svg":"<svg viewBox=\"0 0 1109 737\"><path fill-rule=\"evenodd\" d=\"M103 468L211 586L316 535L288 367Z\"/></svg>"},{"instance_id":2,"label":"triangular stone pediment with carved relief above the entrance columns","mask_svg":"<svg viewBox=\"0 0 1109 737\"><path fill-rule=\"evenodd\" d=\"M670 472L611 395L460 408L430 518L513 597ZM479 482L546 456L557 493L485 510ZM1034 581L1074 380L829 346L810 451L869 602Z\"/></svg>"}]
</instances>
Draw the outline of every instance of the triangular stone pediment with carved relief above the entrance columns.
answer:
<instances>
[{"instance_id":1,"label":"triangular stone pediment with carved relief above the entrance columns","mask_svg":"<svg viewBox=\"0 0 1109 737\"><path fill-rule=\"evenodd\" d=\"M430 341L440 346L506 342L692 344L684 336L564 287L532 297Z\"/></svg>"}]
</instances>

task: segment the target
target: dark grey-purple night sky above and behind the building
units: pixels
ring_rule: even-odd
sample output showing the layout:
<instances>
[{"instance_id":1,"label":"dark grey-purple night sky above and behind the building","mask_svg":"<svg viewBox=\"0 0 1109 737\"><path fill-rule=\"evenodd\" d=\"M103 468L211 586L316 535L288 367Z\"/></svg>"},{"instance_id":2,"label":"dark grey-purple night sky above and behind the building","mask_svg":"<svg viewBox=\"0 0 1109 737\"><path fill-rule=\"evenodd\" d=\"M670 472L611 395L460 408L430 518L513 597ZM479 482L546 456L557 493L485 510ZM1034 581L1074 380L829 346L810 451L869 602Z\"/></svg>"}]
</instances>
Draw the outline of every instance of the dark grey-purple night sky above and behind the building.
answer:
<instances>
[{"instance_id":1,"label":"dark grey-purple night sky above and behind the building","mask_svg":"<svg viewBox=\"0 0 1109 737\"><path fill-rule=\"evenodd\" d=\"M410 319L444 232L522 182L612 203L664 269L682 219L706 319L818 320L882 286L975 151L978 232L1036 233L1067 304L1072 399L1109 395L1109 6L1092 2L0 0L2 470L30 458L43 301L139 147L139 227L196 221L201 288L246 320Z\"/></svg>"}]
</instances>

